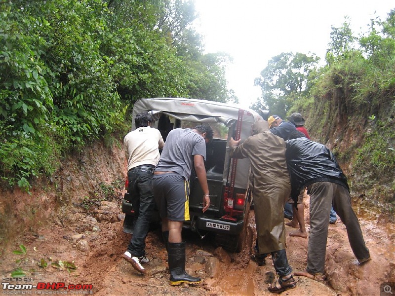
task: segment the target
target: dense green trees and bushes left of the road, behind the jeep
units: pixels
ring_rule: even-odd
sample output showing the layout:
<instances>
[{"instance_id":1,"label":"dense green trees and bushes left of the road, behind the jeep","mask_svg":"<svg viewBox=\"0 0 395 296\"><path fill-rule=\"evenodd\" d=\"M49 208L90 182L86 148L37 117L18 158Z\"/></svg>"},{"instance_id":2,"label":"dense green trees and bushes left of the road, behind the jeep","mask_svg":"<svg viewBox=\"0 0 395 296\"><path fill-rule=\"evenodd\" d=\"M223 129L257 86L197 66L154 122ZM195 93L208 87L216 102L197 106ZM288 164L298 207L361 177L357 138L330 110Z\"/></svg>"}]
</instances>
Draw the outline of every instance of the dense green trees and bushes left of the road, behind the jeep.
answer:
<instances>
[{"instance_id":1,"label":"dense green trees and bushes left of the road, behind the jeep","mask_svg":"<svg viewBox=\"0 0 395 296\"><path fill-rule=\"evenodd\" d=\"M61 155L96 139L111 146L140 98L229 98L228 60L202 54L193 1L10 0L0 15L0 177L9 186L29 191Z\"/></svg>"}]
</instances>

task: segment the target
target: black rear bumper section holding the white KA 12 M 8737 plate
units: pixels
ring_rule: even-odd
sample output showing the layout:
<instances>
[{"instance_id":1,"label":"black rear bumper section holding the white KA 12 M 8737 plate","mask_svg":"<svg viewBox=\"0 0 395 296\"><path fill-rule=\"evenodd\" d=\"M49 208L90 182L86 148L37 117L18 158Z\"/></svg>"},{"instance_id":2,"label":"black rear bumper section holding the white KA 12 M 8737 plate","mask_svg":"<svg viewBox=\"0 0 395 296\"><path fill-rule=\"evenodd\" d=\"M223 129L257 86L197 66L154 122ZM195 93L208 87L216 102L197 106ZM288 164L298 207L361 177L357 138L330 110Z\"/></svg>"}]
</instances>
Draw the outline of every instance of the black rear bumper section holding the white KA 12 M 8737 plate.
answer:
<instances>
[{"instance_id":1,"label":"black rear bumper section holding the white KA 12 M 8737 plate","mask_svg":"<svg viewBox=\"0 0 395 296\"><path fill-rule=\"evenodd\" d=\"M207 217L197 217L197 229L212 231L216 233L239 234L243 230L244 221L237 222L212 219Z\"/></svg>"}]
</instances>

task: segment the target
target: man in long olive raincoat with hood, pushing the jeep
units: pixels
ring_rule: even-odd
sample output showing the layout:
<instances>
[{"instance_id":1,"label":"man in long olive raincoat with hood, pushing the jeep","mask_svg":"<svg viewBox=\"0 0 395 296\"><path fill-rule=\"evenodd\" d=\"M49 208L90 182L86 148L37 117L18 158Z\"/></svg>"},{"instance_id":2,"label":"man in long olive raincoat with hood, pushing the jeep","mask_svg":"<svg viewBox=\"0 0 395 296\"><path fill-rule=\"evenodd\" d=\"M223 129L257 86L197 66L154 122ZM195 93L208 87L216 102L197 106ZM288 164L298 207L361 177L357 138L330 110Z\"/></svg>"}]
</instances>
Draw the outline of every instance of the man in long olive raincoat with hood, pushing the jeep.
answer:
<instances>
[{"instance_id":1,"label":"man in long olive raincoat with hood, pushing the jeep","mask_svg":"<svg viewBox=\"0 0 395 296\"><path fill-rule=\"evenodd\" d=\"M269 130L265 120L254 123L252 136L242 144L240 140L230 140L232 157L249 158L251 163L250 182L259 253L272 254L278 279L268 289L274 293L296 287L285 252L283 208L291 192L285 148L284 140Z\"/></svg>"}]
</instances>

